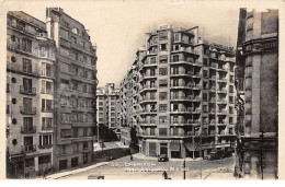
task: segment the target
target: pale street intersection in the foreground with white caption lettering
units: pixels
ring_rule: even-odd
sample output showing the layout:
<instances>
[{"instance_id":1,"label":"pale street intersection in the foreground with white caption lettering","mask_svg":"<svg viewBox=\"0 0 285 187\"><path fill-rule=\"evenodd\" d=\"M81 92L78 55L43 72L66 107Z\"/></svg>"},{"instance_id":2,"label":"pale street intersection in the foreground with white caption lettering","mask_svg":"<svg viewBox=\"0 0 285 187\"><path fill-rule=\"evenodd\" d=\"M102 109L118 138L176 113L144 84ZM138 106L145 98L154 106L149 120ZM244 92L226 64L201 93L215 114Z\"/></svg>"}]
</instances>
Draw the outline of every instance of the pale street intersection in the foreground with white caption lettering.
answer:
<instances>
[{"instance_id":1,"label":"pale street intersection in the foreground with white caption lettering","mask_svg":"<svg viewBox=\"0 0 285 187\"><path fill-rule=\"evenodd\" d=\"M233 156L217 161L202 162L202 179L235 179L233 177ZM162 173L167 171L171 179L183 179L183 160L158 162L155 159L138 159L134 155L130 161L129 156L109 162L95 168L87 170L81 173L71 174L59 179L88 179L88 176L104 176L104 179L163 179ZM185 171L186 179L201 179L200 161L186 161ZM210 174L215 173L215 178ZM213 175L214 176L214 175ZM218 176L218 177L217 177Z\"/></svg>"}]
</instances>

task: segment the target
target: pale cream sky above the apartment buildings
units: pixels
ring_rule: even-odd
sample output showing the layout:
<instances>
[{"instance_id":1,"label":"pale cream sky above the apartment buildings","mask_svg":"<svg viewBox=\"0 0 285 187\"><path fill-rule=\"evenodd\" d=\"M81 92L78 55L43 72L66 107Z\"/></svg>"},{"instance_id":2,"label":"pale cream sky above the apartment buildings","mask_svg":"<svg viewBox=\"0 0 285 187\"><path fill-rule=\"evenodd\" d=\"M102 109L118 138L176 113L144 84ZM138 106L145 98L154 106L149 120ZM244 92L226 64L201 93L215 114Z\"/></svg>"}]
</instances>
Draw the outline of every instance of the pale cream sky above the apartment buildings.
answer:
<instances>
[{"instance_id":1,"label":"pale cream sky above the apartment buildings","mask_svg":"<svg viewBox=\"0 0 285 187\"><path fill-rule=\"evenodd\" d=\"M190 0L7 2L7 10L21 10L42 21L45 21L46 7L62 8L89 30L91 42L98 46L100 86L111 82L119 84L135 60L136 50L145 45L145 33L164 23L174 27L200 26L208 40L236 47L237 5Z\"/></svg>"}]
</instances>

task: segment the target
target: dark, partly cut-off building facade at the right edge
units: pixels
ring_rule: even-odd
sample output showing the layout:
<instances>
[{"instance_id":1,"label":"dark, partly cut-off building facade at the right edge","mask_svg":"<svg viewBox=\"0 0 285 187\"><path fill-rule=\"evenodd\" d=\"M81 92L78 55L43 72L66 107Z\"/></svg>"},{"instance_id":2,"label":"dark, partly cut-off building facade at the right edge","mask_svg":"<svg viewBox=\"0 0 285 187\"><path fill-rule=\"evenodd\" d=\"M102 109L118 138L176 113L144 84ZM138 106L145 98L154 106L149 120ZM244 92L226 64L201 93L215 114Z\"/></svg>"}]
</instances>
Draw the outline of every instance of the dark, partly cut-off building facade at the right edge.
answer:
<instances>
[{"instance_id":1,"label":"dark, partly cut-off building facade at the right edge","mask_svg":"<svg viewBox=\"0 0 285 187\"><path fill-rule=\"evenodd\" d=\"M277 178L278 11L241 9L239 22L236 172Z\"/></svg>"}]
</instances>

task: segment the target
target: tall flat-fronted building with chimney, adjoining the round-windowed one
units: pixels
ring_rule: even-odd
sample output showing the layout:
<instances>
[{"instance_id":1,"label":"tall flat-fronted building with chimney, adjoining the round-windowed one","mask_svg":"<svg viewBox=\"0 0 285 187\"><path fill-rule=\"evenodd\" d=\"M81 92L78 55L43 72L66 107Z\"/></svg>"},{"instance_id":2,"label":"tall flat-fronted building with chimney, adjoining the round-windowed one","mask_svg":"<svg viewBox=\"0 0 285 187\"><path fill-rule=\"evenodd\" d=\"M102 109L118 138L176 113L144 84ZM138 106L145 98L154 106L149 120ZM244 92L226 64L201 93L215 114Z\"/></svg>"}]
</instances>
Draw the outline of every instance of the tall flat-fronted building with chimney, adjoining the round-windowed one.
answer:
<instances>
[{"instance_id":1,"label":"tall flat-fronted building with chimney, adjoining the round-windowed one","mask_svg":"<svg viewBox=\"0 0 285 187\"><path fill-rule=\"evenodd\" d=\"M59 8L46 10L48 37L57 49L55 66L56 171L92 161L96 122L96 47L84 25Z\"/></svg>"}]
</instances>

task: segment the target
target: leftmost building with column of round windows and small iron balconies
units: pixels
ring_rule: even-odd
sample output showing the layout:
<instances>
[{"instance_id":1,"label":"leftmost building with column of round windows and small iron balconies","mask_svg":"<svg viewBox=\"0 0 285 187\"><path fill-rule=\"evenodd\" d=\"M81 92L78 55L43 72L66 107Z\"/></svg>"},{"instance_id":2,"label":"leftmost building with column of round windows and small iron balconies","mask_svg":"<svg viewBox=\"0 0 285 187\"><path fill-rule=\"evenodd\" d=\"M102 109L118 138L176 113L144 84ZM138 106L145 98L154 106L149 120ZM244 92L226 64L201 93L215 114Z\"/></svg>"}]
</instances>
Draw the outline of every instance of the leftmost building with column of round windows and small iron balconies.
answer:
<instances>
[{"instance_id":1,"label":"leftmost building with column of round windows and small iron balconies","mask_svg":"<svg viewBox=\"0 0 285 187\"><path fill-rule=\"evenodd\" d=\"M54 162L55 43L45 23L7 14L7 177L52 171Z\"/></svg>"}]
</instances>

